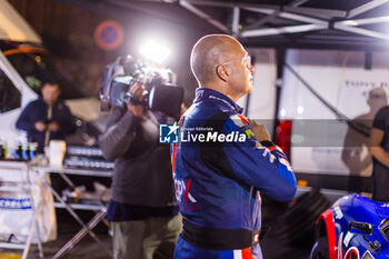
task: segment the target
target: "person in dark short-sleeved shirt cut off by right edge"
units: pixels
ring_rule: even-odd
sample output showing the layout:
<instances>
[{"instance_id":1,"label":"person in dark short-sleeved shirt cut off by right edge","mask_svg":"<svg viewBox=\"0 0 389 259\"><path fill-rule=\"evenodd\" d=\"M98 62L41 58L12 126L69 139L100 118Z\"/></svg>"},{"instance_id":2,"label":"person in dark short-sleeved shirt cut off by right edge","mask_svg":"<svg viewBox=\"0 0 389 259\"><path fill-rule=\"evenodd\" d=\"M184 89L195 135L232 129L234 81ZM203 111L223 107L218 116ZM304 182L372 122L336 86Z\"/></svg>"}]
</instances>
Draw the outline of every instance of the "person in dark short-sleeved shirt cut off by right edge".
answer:
<instances>
[{"instance_id":1,"label":"person in dark short-sleeved shirt cut off by right edge","mask_svg":"<svg viewBox=\"0 0 389 259\"><path fill-rule=\"evenodd\" d=\"M389 106L376 114L370 133L370 151L373 158L372 199L389 201Z\"/></svg>"}]
</instances>

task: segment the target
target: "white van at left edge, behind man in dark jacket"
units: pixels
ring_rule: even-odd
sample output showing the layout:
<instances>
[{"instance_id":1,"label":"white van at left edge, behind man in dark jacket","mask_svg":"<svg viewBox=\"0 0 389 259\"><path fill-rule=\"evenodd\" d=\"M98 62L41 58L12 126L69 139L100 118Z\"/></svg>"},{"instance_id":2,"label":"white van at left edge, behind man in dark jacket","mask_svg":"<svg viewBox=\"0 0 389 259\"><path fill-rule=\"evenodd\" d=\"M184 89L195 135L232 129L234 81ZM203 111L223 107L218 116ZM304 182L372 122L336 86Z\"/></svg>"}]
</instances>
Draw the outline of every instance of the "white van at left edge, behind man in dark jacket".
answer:
<instances>
[{"instance_id":1,"label":"white van at left edge, behind man in dark jacket","mask_svg":"<svg viewBox=\"0 0 389 259\"><path fill-rule=\"evenodd\" d=\"M71 112L84 120L100 116L97 98L84 98L67 79L67 73L52 61L42 47L40 37L6 1L0 1L0 138L13 142L22 135L16 121L22 110L40 93L47 74L56 77L61 87L61 98Z\"/></svg>"}]
</instances>

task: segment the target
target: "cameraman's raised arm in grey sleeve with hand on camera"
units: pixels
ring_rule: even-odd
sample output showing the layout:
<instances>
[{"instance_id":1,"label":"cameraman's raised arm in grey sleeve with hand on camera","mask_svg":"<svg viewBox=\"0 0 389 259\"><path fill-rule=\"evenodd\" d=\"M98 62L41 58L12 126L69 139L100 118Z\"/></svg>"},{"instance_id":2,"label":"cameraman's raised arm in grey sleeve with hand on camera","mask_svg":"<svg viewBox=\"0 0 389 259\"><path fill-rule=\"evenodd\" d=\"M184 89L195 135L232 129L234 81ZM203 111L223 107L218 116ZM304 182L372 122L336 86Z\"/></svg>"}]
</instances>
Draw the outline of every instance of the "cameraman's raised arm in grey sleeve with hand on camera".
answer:
<instances>
[{"instance_id":1,"label":"cameraman's raised arm in grey sleeve with hand on camera","mask_svg":"<svg viewBox=\"0 0 389 259\"><path fill-rule=\"evenodd\" d=\"M143 99L143 87L136 84L130 91L139 99ZM137 124L142 116L142 106L128 104L127 109L117 107L112 109L106 132L99 141L107 160L113 161L126 153L136 138Z\"/></svg>"}]
</instances>

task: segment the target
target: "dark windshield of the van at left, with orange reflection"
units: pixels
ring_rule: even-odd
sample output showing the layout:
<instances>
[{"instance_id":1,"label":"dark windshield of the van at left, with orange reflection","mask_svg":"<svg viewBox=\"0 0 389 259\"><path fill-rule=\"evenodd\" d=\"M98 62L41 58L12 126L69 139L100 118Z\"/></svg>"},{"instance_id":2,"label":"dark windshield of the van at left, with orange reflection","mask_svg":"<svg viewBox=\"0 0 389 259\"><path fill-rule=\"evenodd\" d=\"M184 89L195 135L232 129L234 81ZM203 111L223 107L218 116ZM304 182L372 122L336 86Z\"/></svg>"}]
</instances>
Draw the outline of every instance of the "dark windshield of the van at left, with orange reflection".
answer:
<instances>
[{"instance_id":1,"label":"dark windshield of the van at left, with orange reflection","mask_svg":"<svg viewBox=\"0 0 389 259\"><path fill-rule=\"evenodd\" d=\"M13 49L4 51L4 56L27 84L38 94L40 94L42 82L49 77L58 81L62 99L84 97L74 86L72 77L59 63L53 62L43 49Z\"/></svg>"}]
</instances>

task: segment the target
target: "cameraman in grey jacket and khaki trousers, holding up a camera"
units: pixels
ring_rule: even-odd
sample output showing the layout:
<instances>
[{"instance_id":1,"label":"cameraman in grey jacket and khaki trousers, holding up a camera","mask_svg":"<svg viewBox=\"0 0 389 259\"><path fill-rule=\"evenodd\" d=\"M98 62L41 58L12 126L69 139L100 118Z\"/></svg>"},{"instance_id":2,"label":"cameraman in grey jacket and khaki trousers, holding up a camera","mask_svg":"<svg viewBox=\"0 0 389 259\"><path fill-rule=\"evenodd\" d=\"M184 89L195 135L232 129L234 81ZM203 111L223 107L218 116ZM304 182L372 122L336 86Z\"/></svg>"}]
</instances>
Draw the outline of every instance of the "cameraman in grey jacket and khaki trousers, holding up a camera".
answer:
<instances>
[{"instance_id":1,"label":"cameraman in grey jacket and khaki trousers, holding up a camera","mask_svg":"<svg viewBox=\"0 0 389 259\"><path fill-rule=\"evenodd\" d=\"M141 102L144 87L136 83L130 93ZM158 145L162 122L142 104L113 107L100 138L106 159L114 160L107 218L116 259L173 258L181 220L169 146Z\"/></svg>"}]
</instances>

